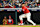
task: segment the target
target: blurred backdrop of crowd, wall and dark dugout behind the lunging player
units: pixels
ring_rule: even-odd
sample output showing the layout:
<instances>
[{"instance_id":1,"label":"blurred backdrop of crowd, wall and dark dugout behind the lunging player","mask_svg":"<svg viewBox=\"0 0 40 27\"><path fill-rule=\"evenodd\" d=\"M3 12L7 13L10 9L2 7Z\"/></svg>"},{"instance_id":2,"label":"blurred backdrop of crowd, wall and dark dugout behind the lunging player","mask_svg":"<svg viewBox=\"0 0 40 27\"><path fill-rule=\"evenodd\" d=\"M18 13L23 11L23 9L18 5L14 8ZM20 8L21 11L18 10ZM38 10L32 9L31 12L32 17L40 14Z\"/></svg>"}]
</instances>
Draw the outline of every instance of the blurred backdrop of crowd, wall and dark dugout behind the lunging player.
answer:
<instances>
[{"instance_id":1,"label":"blurred backdrop of crowd, wall and dark dugout behind the lunging player","mask_svg":"<svg viewBox=\"0 0 40 27\"><path fill-rule=\"evenodd\" d=\"M20 10L22 3L25 3L25 6L29 8L32 14L31 19L36 24L40 24L40 0L0 0L0 25L19 24L19 15L23 14L23 12L18 13L15 8ZM13 9L10 10L9 8ZM23 22L24 24L30 24L26 18L23 19Z\"/></svg>"}]
</instances>

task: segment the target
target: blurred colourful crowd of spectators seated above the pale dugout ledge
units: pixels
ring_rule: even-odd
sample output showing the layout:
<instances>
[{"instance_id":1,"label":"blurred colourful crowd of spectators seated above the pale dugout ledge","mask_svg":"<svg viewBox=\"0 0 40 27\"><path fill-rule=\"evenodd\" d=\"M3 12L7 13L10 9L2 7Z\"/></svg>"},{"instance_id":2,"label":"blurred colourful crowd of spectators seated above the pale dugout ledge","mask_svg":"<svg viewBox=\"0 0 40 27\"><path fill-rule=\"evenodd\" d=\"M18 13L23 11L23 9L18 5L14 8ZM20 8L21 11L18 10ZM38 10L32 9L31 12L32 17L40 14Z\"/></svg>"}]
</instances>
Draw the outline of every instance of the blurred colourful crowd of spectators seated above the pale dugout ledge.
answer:
<instances>
[{"instance_id":1,"label":"blurred colourful crowd of spectators seated above the pale dugout ledge","mask_svg":"<svg viewBox=\"0 0 40 27\"><path fill-rule=\"evenodd\" d=\"M40 8L40 0L0 0L0 8L21 8L21 4L25 3L27 8Z\"/></svg>"}]
</instances>

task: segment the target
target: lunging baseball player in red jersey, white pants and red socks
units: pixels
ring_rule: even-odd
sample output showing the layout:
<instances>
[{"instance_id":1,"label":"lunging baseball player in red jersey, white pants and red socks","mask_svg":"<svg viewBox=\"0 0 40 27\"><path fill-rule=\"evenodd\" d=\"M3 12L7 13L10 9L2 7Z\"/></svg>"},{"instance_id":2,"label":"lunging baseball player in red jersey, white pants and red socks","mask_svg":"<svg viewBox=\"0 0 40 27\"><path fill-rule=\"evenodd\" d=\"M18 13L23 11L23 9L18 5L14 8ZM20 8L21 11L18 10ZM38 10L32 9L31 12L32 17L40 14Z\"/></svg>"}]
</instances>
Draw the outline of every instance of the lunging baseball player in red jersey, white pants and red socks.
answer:
<instances>
[{"instance_id":1,"label":"lunging baseball player in red jersey, white pants and red socks","mask_svg":"<svg viewBox=\"0 0 40 27\"><path fill-rule=\"evenodd\" d=\"M20 24L19 25L23 25L23 18L27 18L27 21L29 21L30 23L32 23L33 25L36 25L36 23L34 23L32 20L31 20L31 13L30 11L27 9L27 7L25 6L24 3L22 3L22 11L24 14L20 15L19 16L19 19L20 19ZM17 10L17 12L19 12L19 10Z\"/></svg>"}]
</instances>

